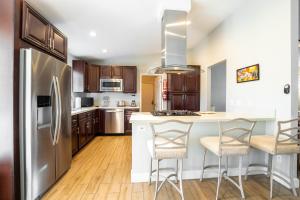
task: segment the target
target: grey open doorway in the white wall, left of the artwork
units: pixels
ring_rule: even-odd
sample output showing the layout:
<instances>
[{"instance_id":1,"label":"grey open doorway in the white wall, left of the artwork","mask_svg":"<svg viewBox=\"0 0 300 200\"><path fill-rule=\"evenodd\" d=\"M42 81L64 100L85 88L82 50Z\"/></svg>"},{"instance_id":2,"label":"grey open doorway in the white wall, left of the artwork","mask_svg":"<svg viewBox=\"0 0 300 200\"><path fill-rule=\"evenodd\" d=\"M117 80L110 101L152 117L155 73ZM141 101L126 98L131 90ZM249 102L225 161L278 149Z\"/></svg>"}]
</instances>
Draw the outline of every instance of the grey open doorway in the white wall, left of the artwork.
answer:
<instances>
[{"instance_id":1,"label":"grey open doorway in the white wall, left of the artwork","mask_svg":"<svg viewBox=\"0 0 300 200\"><path fill-rule=\"evenodd\" d=\"M208 67L208 110L226 112L226 60Z\"/></svg>"}]
</instances>

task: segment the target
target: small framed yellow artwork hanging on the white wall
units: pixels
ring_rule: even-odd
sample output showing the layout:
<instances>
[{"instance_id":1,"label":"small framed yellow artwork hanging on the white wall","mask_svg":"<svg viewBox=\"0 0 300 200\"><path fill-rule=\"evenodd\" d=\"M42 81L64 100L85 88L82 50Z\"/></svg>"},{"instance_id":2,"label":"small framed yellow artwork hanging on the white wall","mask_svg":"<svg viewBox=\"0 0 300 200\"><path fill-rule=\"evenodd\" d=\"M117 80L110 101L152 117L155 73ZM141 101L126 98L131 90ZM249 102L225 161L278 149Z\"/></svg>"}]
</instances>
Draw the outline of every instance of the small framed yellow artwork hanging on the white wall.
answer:
<instances>
[{"instance_id":1,"label":"small framed yellow artwork hanging on the white wall","mask_svg":"<svg viewBox=\"0 0 300 200\"><path fill-rule=\"evenodd\" d=\"M236 75L238 83L259 80L259 64L238 69Z\"/></svg>"}]
</instances>

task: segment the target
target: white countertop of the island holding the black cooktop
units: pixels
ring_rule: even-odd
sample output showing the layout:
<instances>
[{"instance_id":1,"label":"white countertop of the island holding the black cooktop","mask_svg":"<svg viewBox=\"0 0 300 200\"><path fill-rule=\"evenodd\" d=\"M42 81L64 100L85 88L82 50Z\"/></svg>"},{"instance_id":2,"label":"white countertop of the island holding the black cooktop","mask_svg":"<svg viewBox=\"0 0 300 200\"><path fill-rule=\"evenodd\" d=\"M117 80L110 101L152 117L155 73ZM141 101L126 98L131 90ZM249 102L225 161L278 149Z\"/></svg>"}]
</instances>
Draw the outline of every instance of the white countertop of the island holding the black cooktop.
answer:
<instances>
[{"instance_id":1,"label":"white countertop of the island holding the black cooktop","mask_svg":"<svg viewBox=\"0 0 300 200\"><path fill-rule=\"evenodd\" d=\"M273 116L261 116L251 114L229 113L229 112L196 112L200 116L153 116L150 112L139 112L131 115L130 122L157 122L165 120L180 120L185 122L217 122L227 121L235 118L246 118L255 121L271 121Z\"/></svg>"}]
</instances>

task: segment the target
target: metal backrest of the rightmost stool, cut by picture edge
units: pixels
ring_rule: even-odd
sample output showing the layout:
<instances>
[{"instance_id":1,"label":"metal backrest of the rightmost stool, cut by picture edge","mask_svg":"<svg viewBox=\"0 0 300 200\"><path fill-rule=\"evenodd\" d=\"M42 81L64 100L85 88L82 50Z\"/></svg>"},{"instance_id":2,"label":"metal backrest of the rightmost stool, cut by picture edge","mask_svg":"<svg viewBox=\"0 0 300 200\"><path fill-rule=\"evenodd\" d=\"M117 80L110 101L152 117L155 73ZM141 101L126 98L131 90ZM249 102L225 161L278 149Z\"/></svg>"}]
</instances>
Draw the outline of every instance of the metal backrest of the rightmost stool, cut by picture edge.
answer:
<instances>
[{"instance_id":1,"label":"metal backrest of the rightmost stool, cut by picture edge","mask_svg":"<svg viewBox=\"0 0 300 200\"><path fill-rule=\"evenodd\" d=\"M275 152L280 146L297 145L300 151L300 138L298 121L300 118L291 119L287 121L278 121L278 132L275 141Z\"/></svg>"}]
</instances>

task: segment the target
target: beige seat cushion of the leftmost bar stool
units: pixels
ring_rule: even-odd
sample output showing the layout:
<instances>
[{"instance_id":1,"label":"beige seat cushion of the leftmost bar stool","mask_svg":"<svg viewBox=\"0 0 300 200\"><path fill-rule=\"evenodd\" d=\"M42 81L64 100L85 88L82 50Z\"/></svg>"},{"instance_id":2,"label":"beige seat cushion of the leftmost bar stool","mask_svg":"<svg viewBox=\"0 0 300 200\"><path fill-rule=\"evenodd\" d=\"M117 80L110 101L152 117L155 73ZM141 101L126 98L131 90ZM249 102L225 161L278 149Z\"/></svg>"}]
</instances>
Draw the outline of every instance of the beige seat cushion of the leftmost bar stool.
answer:
<instances>
[{"instance_id":1,"label":"beige seat cushion of the leftmost bar stool","mask_svg":"<svg viewBox=\"0 0 300 200\"><path fill-rule=\"evenodd\" d=\"M162 140L161 140L162 141ZM159 144L160 139L156 139L156 142ZM177 159L177 158L186 158L187 149L186 148L174 148L175 144L167 144L162 148L153 149L153 140L147 141L148 151L152 158L154 159ZM155 155L154 152L155 151Z\"/></svg>"}]
</instances>

